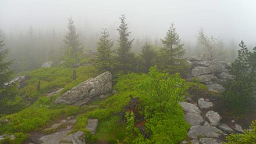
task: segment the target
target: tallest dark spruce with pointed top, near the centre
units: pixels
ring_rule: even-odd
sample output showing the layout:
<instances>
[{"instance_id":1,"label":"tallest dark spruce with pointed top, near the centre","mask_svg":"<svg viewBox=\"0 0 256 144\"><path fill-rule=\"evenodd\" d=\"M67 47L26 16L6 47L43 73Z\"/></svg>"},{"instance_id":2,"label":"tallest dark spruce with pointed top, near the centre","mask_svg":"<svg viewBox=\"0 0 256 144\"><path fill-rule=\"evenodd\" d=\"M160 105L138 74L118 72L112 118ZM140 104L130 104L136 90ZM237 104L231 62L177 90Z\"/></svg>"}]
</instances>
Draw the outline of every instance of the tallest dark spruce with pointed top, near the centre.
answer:
<instances>
[{"instance_id":1,"label":"tallest dark spruce with pointed top, near the centre","mask_svg":"<svg viewBox=\"0 0 256 144\"><path fill-rule=\"evenodd\" d=\"M131 45L134 39L129 40L129 35L131 34L128 31L128 24L125 21L125 15L121 15L120 26L118 28L119 38L118 38L118 49L116 51L116 60L118 61L118 69L121 73L127 74L130 71L136 69L135 54L131 52Z\"/></svg>"}]
</instances>

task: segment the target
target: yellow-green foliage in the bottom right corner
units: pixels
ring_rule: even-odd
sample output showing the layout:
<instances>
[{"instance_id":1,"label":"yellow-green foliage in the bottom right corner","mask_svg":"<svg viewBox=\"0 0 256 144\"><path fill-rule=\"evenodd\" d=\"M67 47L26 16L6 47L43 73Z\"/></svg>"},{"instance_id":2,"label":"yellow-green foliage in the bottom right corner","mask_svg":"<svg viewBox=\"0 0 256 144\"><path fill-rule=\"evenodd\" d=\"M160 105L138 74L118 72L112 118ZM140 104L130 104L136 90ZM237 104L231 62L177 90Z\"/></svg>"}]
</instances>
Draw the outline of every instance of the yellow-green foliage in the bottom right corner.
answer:
<instances>
[{"instance_id":1,"label":"yellow-green foliage in the bottom right corner","mask_svg":"<svg viewBox=\"0 0 256 144\"><path fill-rule=\"evenodd\" d=\"M226 137L228 142L224 144L253 144L256 142L256 120L251 123L249 130L244 130L244 134L231 134Z\"/></svg>"}]
</instances>

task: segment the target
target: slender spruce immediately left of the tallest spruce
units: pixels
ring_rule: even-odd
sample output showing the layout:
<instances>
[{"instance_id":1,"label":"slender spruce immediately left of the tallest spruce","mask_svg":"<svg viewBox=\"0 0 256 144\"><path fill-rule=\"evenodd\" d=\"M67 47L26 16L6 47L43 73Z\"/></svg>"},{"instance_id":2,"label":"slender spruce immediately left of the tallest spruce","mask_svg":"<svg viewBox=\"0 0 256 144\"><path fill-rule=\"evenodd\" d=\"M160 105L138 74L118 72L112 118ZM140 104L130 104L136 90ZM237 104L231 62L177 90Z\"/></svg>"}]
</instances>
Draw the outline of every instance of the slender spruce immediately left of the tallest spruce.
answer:
<instances>
[{"instance_id":1,"label":"slender spruce immediately left of the tallest spruce","mask_svg":"<svg viewBox=\"0 0 256 144\"><path fill-rule=\"evenodd\" d=\"M100 72L113 72L113 69L115 67L112 52L113 42L112 39L109 38L109 33L106 30L106 27L102 28L102 30L103 31L101 32L101 38L99 38L99 41L97 43L98 56L97 60L95 61L95 65Z\"/></svg>"}]
</instances>

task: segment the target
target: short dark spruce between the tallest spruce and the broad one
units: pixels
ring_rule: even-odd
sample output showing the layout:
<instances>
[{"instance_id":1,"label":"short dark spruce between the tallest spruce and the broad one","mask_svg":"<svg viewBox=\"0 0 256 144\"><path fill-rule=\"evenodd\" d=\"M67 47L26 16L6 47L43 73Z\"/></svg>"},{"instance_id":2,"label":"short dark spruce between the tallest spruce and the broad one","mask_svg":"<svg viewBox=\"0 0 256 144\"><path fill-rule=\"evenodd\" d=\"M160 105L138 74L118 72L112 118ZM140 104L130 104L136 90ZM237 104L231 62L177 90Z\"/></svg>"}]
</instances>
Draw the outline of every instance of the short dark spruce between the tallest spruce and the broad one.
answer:
<instances>
[{"instance_id":1,"label":"short dark spruce between the tallest spruce and the broad one","mask_svg":"<svg viewBox=\"0 0 256 144\"><path fill-rule=\"evenodd\" d=\"M144 73L148 73L150 71L150 67L154 66L156 56L157 52L155 52L153 45L145 42L145 44L141 48L140 54L141 70Z\"/></svg>"}]
</instances>

